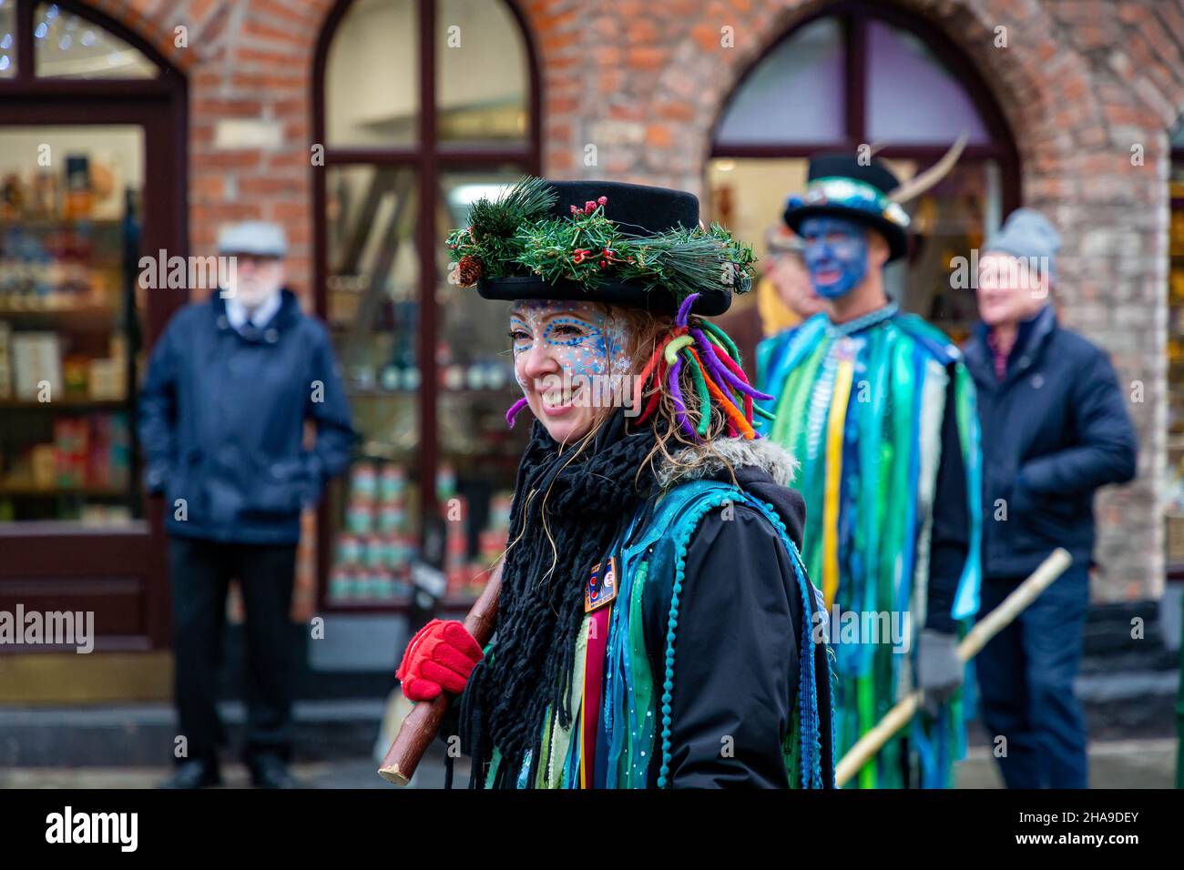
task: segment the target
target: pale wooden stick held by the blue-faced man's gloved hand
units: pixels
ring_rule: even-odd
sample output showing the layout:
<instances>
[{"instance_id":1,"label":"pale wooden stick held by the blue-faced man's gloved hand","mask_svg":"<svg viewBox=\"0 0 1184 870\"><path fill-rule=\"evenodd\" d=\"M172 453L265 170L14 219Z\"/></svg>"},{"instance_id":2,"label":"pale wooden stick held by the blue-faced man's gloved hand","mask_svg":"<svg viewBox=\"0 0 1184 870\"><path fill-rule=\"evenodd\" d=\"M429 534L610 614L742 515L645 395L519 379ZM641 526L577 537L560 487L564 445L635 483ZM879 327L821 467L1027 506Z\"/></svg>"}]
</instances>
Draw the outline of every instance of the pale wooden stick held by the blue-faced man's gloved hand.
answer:
<instances>
[{"instance_id":1,"label":"pale wooden stick held by the blue-faced man's gloved hand","mask_svg":"<svg viewBox=\"0 0 1184 870\"><path fill-rule=\"evenodd\" d=\"M1048 559L1040 563L1031 576L1017 586L1003 602L983 619L974 624L970 633L958 644L958 658L969 662L974 658L986 642L1003 631L1016 617L1018 617L1028 605L1053 585L1066 568L1072 565L1073 558L1067 550L1057 547ZM864 734L852 746L847 755L842 758L835 768L835 786L842 788L848 780L860 772L868 761L875 758L884 743L912 721L916 714L916 708L921 703L921 690L915 689L909 692L900 703L892 708L888 714L876 723L876 727Z\"/></svg>"}]
</instances>

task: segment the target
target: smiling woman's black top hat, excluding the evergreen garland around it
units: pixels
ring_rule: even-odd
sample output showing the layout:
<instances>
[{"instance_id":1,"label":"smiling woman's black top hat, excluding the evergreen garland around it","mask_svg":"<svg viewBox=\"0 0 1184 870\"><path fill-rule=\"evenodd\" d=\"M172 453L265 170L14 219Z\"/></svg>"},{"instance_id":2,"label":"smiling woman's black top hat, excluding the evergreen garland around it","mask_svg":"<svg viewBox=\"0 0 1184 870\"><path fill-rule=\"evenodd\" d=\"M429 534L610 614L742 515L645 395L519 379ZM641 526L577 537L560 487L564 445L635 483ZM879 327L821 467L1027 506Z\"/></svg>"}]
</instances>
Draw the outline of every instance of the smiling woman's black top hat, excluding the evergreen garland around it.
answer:
<instances>
[{"instance_id":1,"label":"smiling woman's black top hat, excluding the evergreen garland around it","mask_svg":"<svg viewBox=\"0 0 1184 870\"><path fill-rule=\"evenodd\" d=\"M488 266L482 263L480 278L476 279L477 292L487 299L565 299L585 302L606 302L613 304L632 305L648 311L659 314L674 314L689 292L697 292L699 297L693 304L695 314L715 316L723 314L732 304L732 290L744 292L751 283L749 276L738 264L738 281L729 286L721 279L729 270L720 269L718 263L729 258L732 253L740 249L734 240L727 236L726 231L713 227L710 232L699 230L699 199L686 191L671 191L664 187L649 187L644 185L629 185L619 181L542 181L523 180L515 189L523 189L523 185L541 185L540 192L553 198L541 210L528 213L528 221L523 220L516 231L521 238L521 226L528 226L527 232L535 231L540 226L546 227L547 221L562 221L568 219L580 220L599 210L604 218L607 218L622 239L628 243L645 244L648 240L658 241L658 237L665 233L682 232L684 236L694 236L689 243L697 253L690 254L695 270L701 272L682 273L682 285L674 288L670 282L663 281L662 275L637 275L637 269L632 268L637 258L623 270L616 266L622 264L622 259L612 263L604 263L601 251L586 251L585 258L601 262L604 275L596 276L594 283L588 281L577 281L568 277L555 277L532 273L532 270L517 262L503 262L493 264L501 275L489 275ZM497 204L485 202L487 208L497 208L513 199L514 191L503 195ZM525 199L525 198L523 198ZM458 253L472 250L475 256L489 257L482 247L482 227L478 224L478 211L475 206L470 215L474 226L464 231L458 231L450 237L450 246L453 250L453 258ZM554 226L551 227L554 232ZM468 237L465 236L468 233ZM727 241L725 241L725 238ZM669 237L665 237L669 241ZM709 241L704 241L709 240ZM731 247L731 246L735 247ZM697 246L697 247L696 247ZM577 250L561 251L556 257L579 258L579 243ZM661 247L662 250L658 250ZM690 249L684 249L690 250ZM748 252L751 256L751 251ZM677 252L674 252L677 254ZM662 256L674 256L665 246L655 246L654 252L646 252L645 257L651 257L654 262L659 262ZM695 262L697 258L697 262ZM464 256L459 258L461 269L464 269ZM740 259L744 259L742 257ZM583 259L575 259L583 263ZM686 263L686 260L683 260ZM751 260L749 260L751 262ZM625 271L626 275L614 275ZM630 273L632 272L632 273ZM669 273L669 270L668 270ZM693 289L687 286L688 275L702 273L704 279L696 283ZM466 276L462 275L462 283Z\"/></svg>"}]
</instances>

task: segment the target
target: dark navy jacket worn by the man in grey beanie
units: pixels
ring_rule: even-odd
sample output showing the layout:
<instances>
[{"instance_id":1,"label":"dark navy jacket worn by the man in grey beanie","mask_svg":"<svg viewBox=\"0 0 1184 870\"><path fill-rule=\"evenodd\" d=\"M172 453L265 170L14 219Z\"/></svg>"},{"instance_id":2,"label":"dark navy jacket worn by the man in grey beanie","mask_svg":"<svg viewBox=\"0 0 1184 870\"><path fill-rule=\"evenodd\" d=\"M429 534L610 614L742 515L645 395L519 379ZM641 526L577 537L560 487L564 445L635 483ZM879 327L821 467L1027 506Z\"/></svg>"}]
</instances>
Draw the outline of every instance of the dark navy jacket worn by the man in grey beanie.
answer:
<instances>
[{"instance_id":1,"label":"dark navy jacket worn by the man in grey beanie","mask_svg":"<svg viewBox=\"0 0 1184 870\"><path fill-rule=\"evenodd\" d=\"M1138 442L1109 357L1058 327L1051 307L1022 327L1002 381L985 327L964 349L983 431L984 576L1025 576L1055 547L1088 565L1095 490L1135 475Z\"/></svg>"}]
</instances>

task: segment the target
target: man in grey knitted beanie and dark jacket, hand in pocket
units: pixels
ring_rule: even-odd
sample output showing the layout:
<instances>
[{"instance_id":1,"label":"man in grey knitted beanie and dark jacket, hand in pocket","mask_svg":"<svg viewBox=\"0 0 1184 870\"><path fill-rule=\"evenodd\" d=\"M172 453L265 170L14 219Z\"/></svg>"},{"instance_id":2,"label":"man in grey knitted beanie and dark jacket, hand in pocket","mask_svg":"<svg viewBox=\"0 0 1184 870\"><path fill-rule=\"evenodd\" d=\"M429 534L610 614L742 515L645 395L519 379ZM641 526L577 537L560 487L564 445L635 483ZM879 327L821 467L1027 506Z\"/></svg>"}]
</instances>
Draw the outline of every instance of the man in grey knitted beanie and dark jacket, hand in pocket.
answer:
<instances>
[{"instance_id":1,"label":"man in grey knitted beanie and dark jacket, hand in pocket","mask_svg":"<svg viewBox=\"0 0 1184 870\"><path fill-rule=\"evenodd\" d=\"M1135 475L1137 442L1106 353L1049 304L1061 238L1019 208L983 246L982 322L964 348L983 437L982 611L1056 547L1069 569L979 653L983 722L1011 788L1085 788L1086 726L1073 694L1094 546L1094 492Z\"/></svg>"}]
</instances>

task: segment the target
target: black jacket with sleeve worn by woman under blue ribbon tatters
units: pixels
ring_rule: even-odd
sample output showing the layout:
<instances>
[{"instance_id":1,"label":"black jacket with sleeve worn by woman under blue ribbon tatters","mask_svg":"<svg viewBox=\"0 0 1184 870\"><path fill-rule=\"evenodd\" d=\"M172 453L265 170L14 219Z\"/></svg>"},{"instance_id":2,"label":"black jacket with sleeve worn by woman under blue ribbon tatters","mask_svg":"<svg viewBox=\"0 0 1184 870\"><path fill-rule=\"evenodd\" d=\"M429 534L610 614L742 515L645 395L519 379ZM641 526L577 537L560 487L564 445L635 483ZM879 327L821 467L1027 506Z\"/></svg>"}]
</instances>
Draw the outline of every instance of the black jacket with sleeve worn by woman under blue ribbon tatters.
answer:
<instances>
[{"instance_id":1,"label":"black jacket with sleeve worn by woman under blue ribbon tatters","mask_svg":"<svg viewBox=\"0 0 1184 870\"><path fill-rule=\"evenodd\" d=\"M802 548L805 502L764 470L735 470L749 494L772 504ZM731 481L727 472L715 479ZM674 788L787 788L780 752L797 696L803 619L793 565L778 533L747 504L731 518L703 517L687 549L678 612L673 691L669 781ZM670 581L646 585L642 599L650 665L662 674ZM655 643L650 643L651 639ZM815 669L829 674L826 647L813 650ZM819 697L823 733L830 734L829 678ZM731 737L732 755L722 752ZM826 743L828 741L823 741ZM650 769L656 785L657 765ZM823 779L834 759L823 746Z\"/></svg>"}]
</instances>

